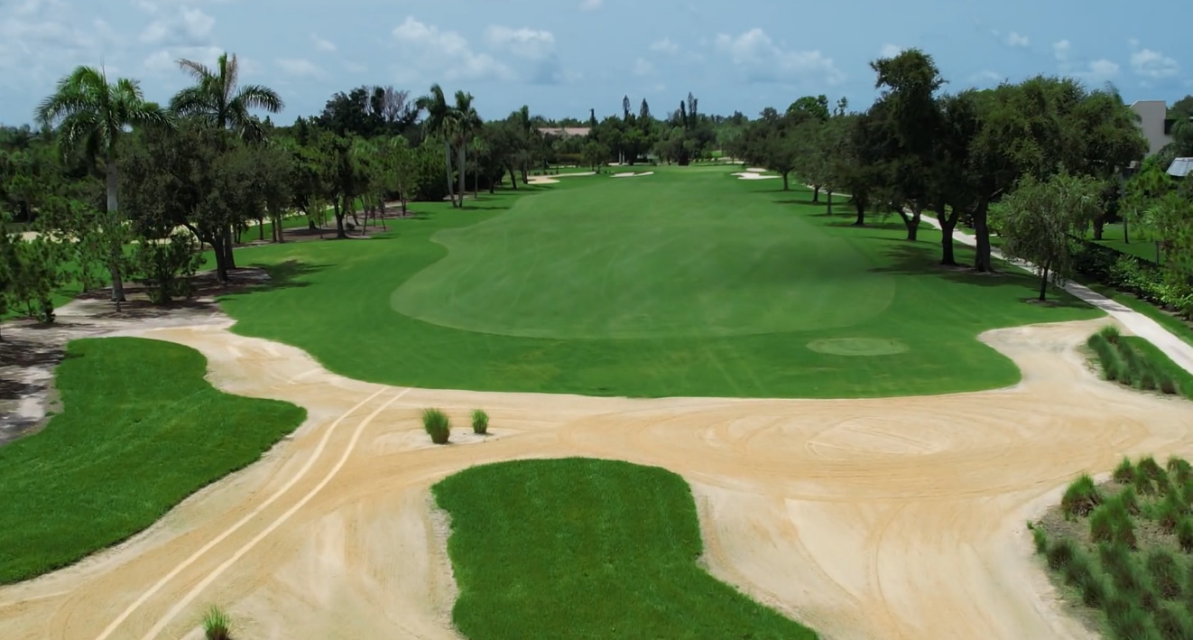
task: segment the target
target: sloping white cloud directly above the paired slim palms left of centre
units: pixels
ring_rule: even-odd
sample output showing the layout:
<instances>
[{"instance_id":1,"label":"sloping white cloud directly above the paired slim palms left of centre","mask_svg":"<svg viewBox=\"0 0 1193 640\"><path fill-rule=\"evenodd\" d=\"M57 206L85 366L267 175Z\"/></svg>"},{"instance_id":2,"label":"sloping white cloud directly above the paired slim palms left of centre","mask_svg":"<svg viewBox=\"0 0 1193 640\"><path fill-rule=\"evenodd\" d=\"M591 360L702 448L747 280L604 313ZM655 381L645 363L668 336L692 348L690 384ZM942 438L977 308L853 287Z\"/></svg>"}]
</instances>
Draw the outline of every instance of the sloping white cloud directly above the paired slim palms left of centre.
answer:
<instances>
[{"instance_id":1,"label":"sloping white cloud directly above the paired slim palms left of centre","mask_svg":"<svg viewBox=\"0 0 1193 640\"><path fill-rule=\"evenodd\" d=\"M402 49L398 74L402 81L428 79L512 80L513 70L488 54L478 54L456 31L441 31L407 17L394 27L394 39Z\"/></svg>"}]
</instances>

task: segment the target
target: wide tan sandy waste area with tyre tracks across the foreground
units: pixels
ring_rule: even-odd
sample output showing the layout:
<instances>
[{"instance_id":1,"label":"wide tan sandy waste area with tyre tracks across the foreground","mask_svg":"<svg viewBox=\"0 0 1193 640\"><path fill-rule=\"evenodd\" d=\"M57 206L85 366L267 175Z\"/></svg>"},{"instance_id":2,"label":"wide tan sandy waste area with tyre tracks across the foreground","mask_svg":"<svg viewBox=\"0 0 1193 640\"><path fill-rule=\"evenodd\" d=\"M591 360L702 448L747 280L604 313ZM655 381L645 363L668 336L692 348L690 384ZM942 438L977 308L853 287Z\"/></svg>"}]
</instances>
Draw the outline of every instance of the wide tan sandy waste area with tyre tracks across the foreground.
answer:
<instances>
[{"instance_id":1,"label":"wide tan sandy waste area with tyre tracks across the foreground","mask_svg":"<svg viewBox=\"0 0 1193 640\"><path fill-rule=\"evenodd\" d=\"M471 464L583 455L693 487L717 577L845 639L1078 638L1024 522L1127 453L1193 454L1193 404L1099 381L1075 351L1101 322L983 340L1024 381L873 400L600 399L406 389L344 379L230 322L129 331L198 349L231 393L309 420L261 463L129 543L0 589L6 638L197 638L210 603L245 638L458 638L427 487ZM395 363L401 365L401 363ZM434 448L419 411L495 436Z\"/></svg>"}]
</instances>

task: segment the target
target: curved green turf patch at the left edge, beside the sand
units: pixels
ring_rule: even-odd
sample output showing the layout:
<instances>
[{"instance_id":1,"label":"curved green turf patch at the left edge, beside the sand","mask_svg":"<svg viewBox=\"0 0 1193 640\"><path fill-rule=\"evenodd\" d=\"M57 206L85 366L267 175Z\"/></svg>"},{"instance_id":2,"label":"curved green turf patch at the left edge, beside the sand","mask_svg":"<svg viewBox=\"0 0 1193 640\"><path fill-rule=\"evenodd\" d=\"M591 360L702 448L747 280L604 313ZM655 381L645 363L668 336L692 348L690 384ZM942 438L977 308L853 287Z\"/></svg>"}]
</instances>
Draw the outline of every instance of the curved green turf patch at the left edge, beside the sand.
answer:
<instances>
[{"instance_id":1,"label":"curved green turf patch at the left edge, beside the sand","mask_svg":"<svg viewBox=\"0 0 1193 640\"><path fill-rule=\"evenodd\" d=\"M0 447L0 584L69 565L153 524L258 460L305 411L221 393L199 352L137 338L76 340L63 413Z\"/></svg>"}]
</instances>

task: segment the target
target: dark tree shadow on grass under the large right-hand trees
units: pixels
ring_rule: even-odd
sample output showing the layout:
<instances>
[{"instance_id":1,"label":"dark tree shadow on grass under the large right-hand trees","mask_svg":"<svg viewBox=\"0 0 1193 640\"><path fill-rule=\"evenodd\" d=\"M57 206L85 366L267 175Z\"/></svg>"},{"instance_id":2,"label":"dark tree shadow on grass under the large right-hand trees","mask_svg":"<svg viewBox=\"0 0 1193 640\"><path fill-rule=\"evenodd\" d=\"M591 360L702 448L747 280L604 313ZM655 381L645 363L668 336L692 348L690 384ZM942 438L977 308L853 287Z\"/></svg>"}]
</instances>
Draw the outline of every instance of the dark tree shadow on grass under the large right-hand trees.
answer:
<instances>
[{"instance_id":1,"label":"dark tree shadow on grass under the large right-hand trees","mask_svg":"<svg viewBox=\"0 0 1193 640\"><path fill-rule=\"evenodd\" d=\"M935 244L907 242L898 240L888 245L884 251L888 264L876 266L870 270L872 273L891 273L898 276L933 276L957 284L971 287L1016 287L1021 289L1020 300L1032 302L1039 295L1039 278L1024 273L1015 267L1005 264L996 264L997 271L994 273L982 273L969 266L950 266L940 264L940 258ZM964 265L969 261L971 251L963 251L958 247L957 261ZM1056 308L1088 308L1088 304L1074 296L1057 290L1049 285L1049 295L1052 296L1045 302L1049 307Z\"/></svg>"}]
</instances>

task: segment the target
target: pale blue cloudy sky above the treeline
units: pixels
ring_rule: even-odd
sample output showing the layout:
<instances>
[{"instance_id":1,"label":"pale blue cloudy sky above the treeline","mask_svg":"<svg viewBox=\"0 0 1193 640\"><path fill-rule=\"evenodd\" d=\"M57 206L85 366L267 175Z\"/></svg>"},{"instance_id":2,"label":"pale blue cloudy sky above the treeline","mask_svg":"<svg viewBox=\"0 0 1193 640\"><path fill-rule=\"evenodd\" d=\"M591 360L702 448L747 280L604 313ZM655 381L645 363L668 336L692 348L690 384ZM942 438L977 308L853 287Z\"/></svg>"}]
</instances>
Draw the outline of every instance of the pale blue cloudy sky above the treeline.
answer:
<instances>
[{"instance_id":1,"label":"pale blue cloudy sky above the treeline","mask_svg":"<svg viewBox=\"0 0 1193 640\"><path fill-rule=\"evenodd\" d=\"M1113 82L1127 101L1193 93L1188 0L0 0L0 122L29 122L76 64L141 80L161 101L178 57L239 55L276 88L279 122L335 91L432 82L476 96L482 117L521 104L548 117L653 111L688 91L704 112L750 116L804 94L873 99L867 62L932 54L948 90L1037 73Z\"/></svg>"}]
</instances>

